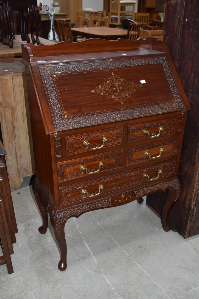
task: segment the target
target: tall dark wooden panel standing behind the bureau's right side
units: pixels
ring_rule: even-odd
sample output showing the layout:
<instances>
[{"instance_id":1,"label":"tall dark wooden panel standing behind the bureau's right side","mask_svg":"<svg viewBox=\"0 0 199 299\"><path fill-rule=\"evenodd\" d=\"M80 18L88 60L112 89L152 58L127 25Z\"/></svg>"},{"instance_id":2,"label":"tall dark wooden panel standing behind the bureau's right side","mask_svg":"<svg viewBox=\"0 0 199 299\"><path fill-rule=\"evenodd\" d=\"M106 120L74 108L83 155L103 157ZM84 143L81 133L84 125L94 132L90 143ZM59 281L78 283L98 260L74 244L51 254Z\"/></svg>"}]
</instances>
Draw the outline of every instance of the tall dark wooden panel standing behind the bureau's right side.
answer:
<instances>
[{"instance_id":1,"label":"tall dark wooden panel standing behind the bureau's right side","mask_svg":"<svg viewBox=\"0 0 199 299\"><path fill-rule=\"evenodd\" d=\"M167 0L163 39L166 41L191 110L187 114L179 179L181 196L169 222L184 238L199 233L199 135L198 135L198 0ZM147 196L147 205L161 213L164 198Z\"/></svg>"}]
</instances>

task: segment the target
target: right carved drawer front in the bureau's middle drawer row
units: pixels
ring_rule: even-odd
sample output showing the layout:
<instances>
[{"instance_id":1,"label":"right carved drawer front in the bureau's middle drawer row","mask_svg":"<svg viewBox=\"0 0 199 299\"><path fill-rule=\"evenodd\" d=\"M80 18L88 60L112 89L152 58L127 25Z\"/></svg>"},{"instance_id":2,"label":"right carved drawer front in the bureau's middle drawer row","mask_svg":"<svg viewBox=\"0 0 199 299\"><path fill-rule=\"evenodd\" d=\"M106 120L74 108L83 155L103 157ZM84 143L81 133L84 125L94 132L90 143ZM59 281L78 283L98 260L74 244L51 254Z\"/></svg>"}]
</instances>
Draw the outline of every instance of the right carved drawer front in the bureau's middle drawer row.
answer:
<instances>
[{"instance_id":1,"label":"right carved drawer front in the bureau's middle drawer row","mask_svg":"<svg viewBox=\"0 0 199 299\"><path fill-rule=\"evenodd\" d=\"M128 148L127 166L145 161L158 161L158 159L177 154L178 143L179 140L175 139Z\"/></svg>"}]
</instances>

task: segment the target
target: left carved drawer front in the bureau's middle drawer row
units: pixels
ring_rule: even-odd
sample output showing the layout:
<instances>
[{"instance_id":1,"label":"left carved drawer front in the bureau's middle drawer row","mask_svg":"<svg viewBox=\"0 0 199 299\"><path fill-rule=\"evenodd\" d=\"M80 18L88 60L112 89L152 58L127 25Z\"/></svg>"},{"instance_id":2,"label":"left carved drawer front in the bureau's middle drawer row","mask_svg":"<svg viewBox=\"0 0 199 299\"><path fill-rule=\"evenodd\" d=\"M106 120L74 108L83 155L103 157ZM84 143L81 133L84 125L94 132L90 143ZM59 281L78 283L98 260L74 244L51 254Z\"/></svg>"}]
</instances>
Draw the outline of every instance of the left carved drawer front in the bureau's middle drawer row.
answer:
<instances>
[{"instance_id":1,"label":"left carved drawer front in the bureau's middle drawer row","mask_svg":"<svg viewBox=\"0 0 199 299\"><path fill-rule=\"evenodd\" d=\"M60 182L78 177L91 179L93 174L120 168L121 164L122 150L65 161L57 164L58 179Z\"/></svg>"}]
</instances>

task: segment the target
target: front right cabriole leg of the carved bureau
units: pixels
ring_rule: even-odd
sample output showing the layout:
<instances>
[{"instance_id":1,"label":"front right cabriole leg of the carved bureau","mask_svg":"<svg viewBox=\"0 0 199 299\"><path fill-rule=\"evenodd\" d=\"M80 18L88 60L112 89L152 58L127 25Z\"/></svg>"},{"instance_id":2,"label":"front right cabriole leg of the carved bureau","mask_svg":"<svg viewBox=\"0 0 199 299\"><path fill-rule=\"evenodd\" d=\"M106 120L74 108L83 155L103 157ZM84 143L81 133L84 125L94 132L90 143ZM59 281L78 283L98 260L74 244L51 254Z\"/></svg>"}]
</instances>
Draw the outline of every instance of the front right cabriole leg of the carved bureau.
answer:
<instances>
[{"instance_id":1,"label":"front right cabriole leg of the carved bureau","mask_svg":"<svg viewBox=\"0 0 199 299\"><path fill-rule=\"evenodd\" d=\"M161 214L161 223L164 231L170 231L171 229L171 226L168 224L167 220L172 208L177 202L174 201L174 198L175 198L175 190L172 188L168 188L168 194L164 202L162 214Z\"/></svg>"}]
</instances>

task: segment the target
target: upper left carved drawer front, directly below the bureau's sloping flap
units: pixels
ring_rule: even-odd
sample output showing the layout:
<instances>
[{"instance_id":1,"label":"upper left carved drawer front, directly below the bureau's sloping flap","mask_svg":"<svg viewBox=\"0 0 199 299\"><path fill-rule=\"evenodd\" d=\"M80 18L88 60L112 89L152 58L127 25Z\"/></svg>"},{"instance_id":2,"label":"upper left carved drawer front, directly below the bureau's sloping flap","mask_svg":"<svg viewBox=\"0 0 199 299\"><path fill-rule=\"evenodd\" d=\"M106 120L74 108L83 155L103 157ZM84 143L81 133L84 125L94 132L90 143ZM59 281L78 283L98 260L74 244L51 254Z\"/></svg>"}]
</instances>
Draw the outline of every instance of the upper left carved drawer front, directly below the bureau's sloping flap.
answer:
<instances>
[{"instance_id":1,"label":"upper left carved drawer front, directly below the bureau's sloping flap","mask_svg":"<svg viewBox=\"0 0 199 299\"><path fill-rule=\"evenodd\" d=\"M67 155L95 151L122 144L123 128L101 130L66 137Z\"/></svg>"}]
</instances>

